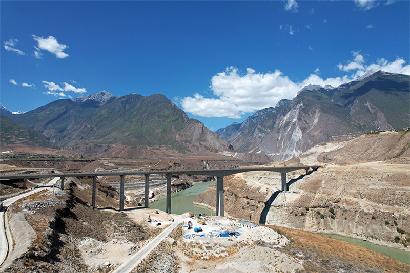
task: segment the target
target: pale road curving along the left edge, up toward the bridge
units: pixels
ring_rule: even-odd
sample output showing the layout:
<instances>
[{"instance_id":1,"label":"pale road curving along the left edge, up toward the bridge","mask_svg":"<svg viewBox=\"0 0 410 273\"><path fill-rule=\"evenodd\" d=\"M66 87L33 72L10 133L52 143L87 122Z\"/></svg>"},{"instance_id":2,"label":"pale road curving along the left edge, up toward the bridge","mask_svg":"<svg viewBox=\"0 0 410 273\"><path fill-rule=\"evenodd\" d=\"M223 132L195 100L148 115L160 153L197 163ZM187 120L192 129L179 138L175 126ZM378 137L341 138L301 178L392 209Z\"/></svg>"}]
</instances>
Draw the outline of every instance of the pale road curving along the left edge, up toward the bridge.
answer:
<instances>
[{"instance_id":1,"label":"pale road curving along the left edge, up toward the bridge","mask_svg":"<svg viewBox=\"0 0 410 273\"><path fill-rule=\"evenodd\" d=\"M50 182L48 182L47 184L45 184L44 186L52 186L59 179L60 179L59 177L56 177L56 178L52 179ZM7 253L8 253L8 250L9 250L9 244L7 242L5 222L4 222L4 213L6 212L7 207L9 205L11 205L12 203L14 203L15 201L17 201L21 198L24 198L26 196L32 195L34 193L37 193L41 190L43 190L42 187L35 188L34 190L32 190L30 192L14 196L14 197L11 197L11 198L6 199L6 200L3 201L3 208L0 212L0 265L3 264L4 260L7 257Z\"/></svg>"}]
</instances>

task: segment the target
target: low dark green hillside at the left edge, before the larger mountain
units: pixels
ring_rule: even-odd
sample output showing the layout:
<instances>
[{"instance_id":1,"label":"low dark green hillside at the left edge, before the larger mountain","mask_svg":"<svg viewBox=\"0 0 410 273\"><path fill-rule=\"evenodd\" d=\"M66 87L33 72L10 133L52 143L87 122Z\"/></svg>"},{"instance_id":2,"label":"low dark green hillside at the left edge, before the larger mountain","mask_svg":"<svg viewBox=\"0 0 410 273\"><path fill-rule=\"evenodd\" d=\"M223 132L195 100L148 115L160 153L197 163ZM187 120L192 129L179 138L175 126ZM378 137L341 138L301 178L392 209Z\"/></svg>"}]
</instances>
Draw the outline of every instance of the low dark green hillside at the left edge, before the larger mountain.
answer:
<instances>
[{"instance_id":1,"label":"low dark green hillside at the left edge, before the larger mountain","mask_svg":"<svg viewBox=\"0 0 410 273\"><path fill-rule=\"evenodd\" d=\"M53 148L54 146L44 135L13 122L5 115L0 115L0 124L0 143L2 143L2 146L9 144L26 144L47 148Z\"/></svg>"}]
</instances>

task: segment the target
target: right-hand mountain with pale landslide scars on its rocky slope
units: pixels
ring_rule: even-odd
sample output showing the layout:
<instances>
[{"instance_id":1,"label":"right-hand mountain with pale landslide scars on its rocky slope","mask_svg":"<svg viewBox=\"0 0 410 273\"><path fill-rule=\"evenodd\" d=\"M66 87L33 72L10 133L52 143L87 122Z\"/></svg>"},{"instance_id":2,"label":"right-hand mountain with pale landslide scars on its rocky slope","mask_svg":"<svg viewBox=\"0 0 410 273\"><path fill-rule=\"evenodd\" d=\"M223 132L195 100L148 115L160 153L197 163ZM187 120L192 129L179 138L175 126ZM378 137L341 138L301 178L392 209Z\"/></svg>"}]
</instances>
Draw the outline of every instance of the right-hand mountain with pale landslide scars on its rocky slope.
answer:
<instances>
[{"instance_id":1,"label":"right-hand mountain with pale landslide scars on its rocky slope","mask_svg":"<svg viewBox=\"0 0 410 273\"><path fill-rule=\"evenodd\" d=\"M378 71L337 88L310 85L290 102L216 131L237 152L286 160L313 145L410 126L410 77Z\"/></svg>"}]
</instances>

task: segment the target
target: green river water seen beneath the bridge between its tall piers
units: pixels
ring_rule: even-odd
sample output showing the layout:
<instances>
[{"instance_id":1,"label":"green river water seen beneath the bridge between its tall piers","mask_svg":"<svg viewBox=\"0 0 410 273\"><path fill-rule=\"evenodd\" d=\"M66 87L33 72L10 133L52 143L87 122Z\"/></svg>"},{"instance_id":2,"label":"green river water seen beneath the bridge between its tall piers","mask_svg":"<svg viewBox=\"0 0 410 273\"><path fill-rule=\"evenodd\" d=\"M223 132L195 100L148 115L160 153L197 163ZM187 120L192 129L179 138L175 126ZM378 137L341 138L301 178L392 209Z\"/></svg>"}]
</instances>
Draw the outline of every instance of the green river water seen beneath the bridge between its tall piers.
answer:
<instances>
[{"instance_id":1,"label":"green river water seen beneath the bridge between its tall piers","mask_svg":"<svg viewBox=\"0 0 410 273\"><path fill-rule=\"evenodd\" d=\"M187 212L193 212L195 214L204 213L215 215L215 211L203 206L194 205L192 202L198 197L198 194L205 192L209 185L214 184L216 181L199 182L194 184L192 187L186 188L185 190L172 193L171 194L171 212L173 214L183 214ZM161 196L157 201L150 204L151 208L160 209L161 211L166 211L166 197Z\"/></svg>"}]
</instances>

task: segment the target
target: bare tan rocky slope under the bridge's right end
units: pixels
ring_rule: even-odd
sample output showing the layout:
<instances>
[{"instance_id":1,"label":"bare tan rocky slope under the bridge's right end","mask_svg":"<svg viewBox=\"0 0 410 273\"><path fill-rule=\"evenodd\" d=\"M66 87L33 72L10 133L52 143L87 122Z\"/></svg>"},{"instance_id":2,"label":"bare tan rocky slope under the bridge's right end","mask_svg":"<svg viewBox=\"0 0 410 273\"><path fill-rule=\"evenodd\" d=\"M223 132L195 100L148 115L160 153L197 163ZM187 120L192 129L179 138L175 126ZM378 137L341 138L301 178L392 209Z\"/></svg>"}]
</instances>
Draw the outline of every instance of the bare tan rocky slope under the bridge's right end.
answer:
<instances>
[{"instance_id":1,"label":"bare tan rocky slope under the bridge's right end","mask_svg":"<svg viewBox=\"0 0 410 273\"><path fill-rule=\"evenodd\" d=\"M309 175L304 170L288 173L289 192L280 191L280 173L226 177L225 211L260 223L358 237L397 248L408 244L410 130L316 145L300 161L281 164L292 163L327 165ZM215 207L215 196L213 185L196 202Z\"/></svg>"}]
</instances>

